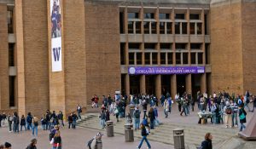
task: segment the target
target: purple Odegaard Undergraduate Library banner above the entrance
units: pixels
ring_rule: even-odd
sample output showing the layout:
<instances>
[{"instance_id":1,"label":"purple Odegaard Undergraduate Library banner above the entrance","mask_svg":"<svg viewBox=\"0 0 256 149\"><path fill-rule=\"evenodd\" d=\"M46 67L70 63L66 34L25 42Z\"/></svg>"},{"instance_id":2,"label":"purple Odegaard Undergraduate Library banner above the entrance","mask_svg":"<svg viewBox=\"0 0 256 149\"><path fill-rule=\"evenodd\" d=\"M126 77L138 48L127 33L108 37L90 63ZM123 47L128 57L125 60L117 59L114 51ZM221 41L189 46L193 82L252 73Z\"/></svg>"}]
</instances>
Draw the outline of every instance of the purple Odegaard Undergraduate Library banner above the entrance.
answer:
<instances>
[{"instance_id":1,"label":"purple Odegaard Undergraduate Library banner above the entrance","mask_svg":"<svg viewBox=\"0 0 256 149\"><path fill-rule=\"evenodd\" d=\"M128 73L134 75L188 74L204 72L204 66L130 66L128 68Z\"/></svg>"}]
</instances>

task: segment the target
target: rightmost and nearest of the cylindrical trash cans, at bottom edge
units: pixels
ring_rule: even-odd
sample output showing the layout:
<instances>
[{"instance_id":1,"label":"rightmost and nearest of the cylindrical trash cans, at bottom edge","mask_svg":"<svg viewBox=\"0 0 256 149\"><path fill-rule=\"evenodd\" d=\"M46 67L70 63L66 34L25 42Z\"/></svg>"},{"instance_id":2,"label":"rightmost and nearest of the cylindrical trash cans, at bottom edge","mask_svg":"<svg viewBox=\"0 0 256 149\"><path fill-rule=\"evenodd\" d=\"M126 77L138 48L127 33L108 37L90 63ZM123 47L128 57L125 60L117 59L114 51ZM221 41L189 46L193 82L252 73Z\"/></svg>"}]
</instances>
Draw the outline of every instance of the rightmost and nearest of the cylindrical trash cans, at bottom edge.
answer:
<instances>
[{"instance_id":1,"label":"rightmost and nearest of the cylindrical trash cans, at bottom edge","mask_svg":"<svg viewBox=\"0 0 256 149\"><path fill-rule=\"evenodd\" d=\"M173 140L175 149L185 149L184 129L173 129Z\"/></svg>"}]
</instances>

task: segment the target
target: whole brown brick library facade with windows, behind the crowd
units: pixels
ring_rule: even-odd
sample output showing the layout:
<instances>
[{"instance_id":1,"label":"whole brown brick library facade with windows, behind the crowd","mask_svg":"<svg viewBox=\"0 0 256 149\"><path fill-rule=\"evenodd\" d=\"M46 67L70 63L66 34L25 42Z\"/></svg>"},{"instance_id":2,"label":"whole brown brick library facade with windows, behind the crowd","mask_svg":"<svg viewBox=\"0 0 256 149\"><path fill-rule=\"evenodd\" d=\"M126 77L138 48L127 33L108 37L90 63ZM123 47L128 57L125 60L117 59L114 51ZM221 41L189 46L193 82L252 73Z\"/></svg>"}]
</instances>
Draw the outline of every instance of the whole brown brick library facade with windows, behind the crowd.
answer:
<instances>
[{"instance_id":1,"label":"whole brown brick library facade with windows, behind the crowd","mask_svg":"<svg viewBox=\"0 0 256 149\"><path fill-rule=\"evenodd\" d=\"M254 0L61 0L52 72L49 1L0 0L0 110L75 110L92 95L256 92ZM195 73L132 74L130 68Z\"/></svg>"}]
</instances>

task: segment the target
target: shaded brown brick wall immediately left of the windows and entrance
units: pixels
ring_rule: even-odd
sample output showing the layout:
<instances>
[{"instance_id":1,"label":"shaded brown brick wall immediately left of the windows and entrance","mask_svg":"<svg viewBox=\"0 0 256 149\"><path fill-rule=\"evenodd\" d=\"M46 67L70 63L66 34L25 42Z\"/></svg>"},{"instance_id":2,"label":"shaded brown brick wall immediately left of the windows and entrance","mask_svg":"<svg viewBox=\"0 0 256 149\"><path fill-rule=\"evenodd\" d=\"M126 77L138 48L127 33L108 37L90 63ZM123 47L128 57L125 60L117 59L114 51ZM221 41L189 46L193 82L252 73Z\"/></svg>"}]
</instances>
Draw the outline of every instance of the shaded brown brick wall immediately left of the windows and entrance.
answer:
<instances>
[{"instance_id":1,"label":"shaded brown brick wall immediately left of the windows and entrance","mask_svg":"<svg viewBox=\"0 0 256 149\"><path fill-rule=\"evenodd\" d=\"M112 95L121 88L119 7L85 2L86 94Z\"/></svg>"}]
</instances>

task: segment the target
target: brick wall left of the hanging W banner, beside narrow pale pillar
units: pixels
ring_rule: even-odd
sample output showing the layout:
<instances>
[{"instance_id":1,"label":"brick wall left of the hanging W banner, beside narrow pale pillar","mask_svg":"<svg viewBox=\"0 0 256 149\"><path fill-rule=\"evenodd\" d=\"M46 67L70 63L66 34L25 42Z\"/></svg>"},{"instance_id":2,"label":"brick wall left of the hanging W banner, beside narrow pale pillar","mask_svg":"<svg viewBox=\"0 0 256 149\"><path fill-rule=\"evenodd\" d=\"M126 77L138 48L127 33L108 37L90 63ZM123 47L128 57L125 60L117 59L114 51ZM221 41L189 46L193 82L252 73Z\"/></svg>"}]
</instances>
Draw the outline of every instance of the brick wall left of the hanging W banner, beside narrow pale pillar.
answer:
<instances>
[{"instance_id":1,"label":"brick wall left of the hanging W banner, beside narrow pale pillar","mask_svg":"<svg viewBox=\"0 0 256 149\"><path fill-rule=\"evenodd\" d=\"M49 109L47 2L23 1L26 112Z\"/></svg>"}]
</instances>

